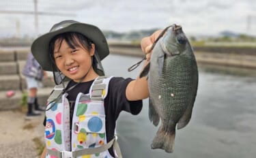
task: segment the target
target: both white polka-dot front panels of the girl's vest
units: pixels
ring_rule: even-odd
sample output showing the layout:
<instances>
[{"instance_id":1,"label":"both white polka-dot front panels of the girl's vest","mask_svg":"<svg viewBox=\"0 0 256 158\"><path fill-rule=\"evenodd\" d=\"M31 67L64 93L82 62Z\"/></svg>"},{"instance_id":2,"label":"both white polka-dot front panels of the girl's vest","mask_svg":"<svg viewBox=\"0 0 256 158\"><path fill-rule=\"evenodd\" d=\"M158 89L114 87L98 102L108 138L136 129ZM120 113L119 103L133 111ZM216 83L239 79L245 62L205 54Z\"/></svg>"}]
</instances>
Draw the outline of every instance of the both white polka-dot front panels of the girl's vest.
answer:
<instances>
[{"instance_id":1,"label":"both white polka-dot front panels of the girl's vest","mask_svg":"<svg viewBox=\"0 0 256 158\"><path fill-rule=\"evenodd\" d=\"M106 93L104 91L104 93ZM79 93L79 101L75 104L74 115L72 118L72 142L66 131L69 129L69 105L65 94L62 96L62 102L53 105L51 110L46 112L46 146L52 150L76 151L83 148L94 148L105 144L105 113L104 101L91 101L89 95ZM68 118L68 119L67 119ZM68 127L68 128L66 128ZM66 129L65 129L66 128ZM62 140L64 139L64 140ZM72 149L68 149L67 144L72 144ZM83 155L78 158L106 158L107 151L96 153L94 155ZM51 155L46 155L47 158L55 158Z\"/></svg>"}]
</instances>

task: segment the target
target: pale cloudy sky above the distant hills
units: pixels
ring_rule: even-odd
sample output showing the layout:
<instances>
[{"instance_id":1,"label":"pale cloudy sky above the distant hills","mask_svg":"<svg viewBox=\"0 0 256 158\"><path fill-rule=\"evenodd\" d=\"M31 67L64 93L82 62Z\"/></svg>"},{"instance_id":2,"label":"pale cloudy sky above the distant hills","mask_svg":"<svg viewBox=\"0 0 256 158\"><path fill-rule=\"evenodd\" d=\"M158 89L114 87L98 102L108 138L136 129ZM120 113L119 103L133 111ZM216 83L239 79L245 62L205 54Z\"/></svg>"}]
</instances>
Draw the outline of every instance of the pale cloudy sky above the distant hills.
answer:
<instances>
[{"instance_id":1,"label":"pale cloudy sky above the distant hills","mask_svg":"<svg viewBox=\"0 0 256 158\"><path fill-rule=\"evenodd\" d=\"M0 11L33 12L35 0L0 2ZM37 0L38 33L33 14L0 12L0 36L48 32L61 20L73 19L117 32L163 29L174 23L188 35L218 35L233 31L256 35L255 0ZM56 15L57 14L57 15ZM62 15L61 15L62 14Z\"/></svg>"}]
</instances>

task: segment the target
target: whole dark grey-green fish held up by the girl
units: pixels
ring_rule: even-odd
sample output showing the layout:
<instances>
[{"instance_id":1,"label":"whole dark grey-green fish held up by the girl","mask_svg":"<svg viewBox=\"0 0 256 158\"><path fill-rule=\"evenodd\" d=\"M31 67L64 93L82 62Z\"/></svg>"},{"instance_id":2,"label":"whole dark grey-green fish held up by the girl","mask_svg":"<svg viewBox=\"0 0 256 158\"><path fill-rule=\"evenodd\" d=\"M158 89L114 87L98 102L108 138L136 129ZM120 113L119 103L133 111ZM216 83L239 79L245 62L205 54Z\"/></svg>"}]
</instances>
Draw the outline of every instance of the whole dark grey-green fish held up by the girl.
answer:
<instances>
[{"instance_id":1,"label":"whole dark grey-green fish held up by the girl","mask_svg":"<svg viewBox=\"0 0 256 158\"><path fill-rule=\"evenodd\" d=\"M150 61L139 77L147 76L150 121L155 126L160 123L151 148L173 153L176 127L188 125L192 115L199 74L182 27L174 24L164 31L153 44Z\"/></svg>"}]
</instances>

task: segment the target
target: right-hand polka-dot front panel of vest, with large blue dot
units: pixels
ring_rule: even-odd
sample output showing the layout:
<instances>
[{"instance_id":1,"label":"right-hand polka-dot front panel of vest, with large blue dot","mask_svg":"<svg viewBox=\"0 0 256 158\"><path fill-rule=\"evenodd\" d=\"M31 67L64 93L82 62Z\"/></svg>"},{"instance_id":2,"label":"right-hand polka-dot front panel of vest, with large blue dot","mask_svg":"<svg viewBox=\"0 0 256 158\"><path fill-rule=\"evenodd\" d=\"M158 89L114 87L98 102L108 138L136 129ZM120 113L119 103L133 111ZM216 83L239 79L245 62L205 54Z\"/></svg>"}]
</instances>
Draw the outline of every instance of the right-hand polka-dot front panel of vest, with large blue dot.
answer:
<instances>
[{"instance_id":1,"label":"right-hand polka-dot front panel of vest, with large blue dot","mask_svg":"<svg viewBox=\"0 0 256 158\"><path fill-rule=\"evenodd\" d=\"M85 98L85 97L83 97ZM76 108L77 107L77 108ZM75 107L73 122L78 124L77 131L72 131L72 150L94 148L105 144L105 115L103 101L80 100ZM106 157L106 151L79 158Z\"/></svg>"}]
</instances>

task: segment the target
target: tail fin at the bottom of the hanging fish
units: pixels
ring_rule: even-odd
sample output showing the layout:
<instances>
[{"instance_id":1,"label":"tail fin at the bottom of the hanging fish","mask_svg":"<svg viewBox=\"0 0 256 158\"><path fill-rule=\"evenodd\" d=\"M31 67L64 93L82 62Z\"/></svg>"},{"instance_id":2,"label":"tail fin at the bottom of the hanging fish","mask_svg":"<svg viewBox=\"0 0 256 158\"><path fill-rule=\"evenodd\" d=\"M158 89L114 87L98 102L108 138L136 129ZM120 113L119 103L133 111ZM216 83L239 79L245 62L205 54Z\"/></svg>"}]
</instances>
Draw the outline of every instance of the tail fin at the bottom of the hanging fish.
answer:
<instances>
[{"instance_id":1,"label":"tail fin at the bottom of the hanging fish","mask_svg":"<svg viewBox=\"0 0 256 158\"><path fill-rule=\"evenodd\" d=\"M152 149L162 148L167 153L173 153L174 139L175 139L175 128L171 131L164 131L161 125L151 144L151 148Z\"/></svg>"}]
</instances>

